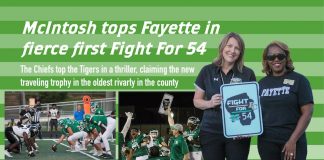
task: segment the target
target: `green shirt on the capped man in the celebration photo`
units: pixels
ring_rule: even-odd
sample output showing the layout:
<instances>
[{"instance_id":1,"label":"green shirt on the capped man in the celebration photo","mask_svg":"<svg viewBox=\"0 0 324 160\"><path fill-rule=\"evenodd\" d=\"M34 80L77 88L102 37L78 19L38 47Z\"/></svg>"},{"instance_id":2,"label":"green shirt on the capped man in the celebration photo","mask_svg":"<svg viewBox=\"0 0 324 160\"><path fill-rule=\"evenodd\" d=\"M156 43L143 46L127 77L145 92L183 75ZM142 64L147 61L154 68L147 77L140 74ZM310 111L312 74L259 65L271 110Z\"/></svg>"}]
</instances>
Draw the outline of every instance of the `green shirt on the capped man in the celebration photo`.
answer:
<instances>
[{"instance_id":1,"label":"green shirt on the capped man in the celebration photo","mask_svg":"<svg viewBox=\"0 0 324 160\"><path fill-rule=\"evenodd\" d=\"M187 142L182 135L173 137L170 140L170 148L171 160L181 160L183 159L185 154L189 153Z\"/></svg>"}]
</instances>

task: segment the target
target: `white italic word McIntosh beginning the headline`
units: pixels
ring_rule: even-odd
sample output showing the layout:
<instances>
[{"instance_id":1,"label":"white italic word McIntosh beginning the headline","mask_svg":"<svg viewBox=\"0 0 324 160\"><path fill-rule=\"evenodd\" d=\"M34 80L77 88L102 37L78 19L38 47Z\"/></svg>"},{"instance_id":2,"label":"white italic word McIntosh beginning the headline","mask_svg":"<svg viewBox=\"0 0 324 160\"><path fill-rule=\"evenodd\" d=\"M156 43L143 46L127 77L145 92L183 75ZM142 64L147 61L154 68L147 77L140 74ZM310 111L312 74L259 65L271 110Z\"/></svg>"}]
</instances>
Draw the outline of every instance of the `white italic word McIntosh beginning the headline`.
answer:
<instances>
[{"instance_id":1,"label":"white italic word McIntosh beginning the headline","mask_svg":"<svg viewBox=\"0 0 324 160\"><path fill-rule=\"evenodd\" d=\"M38 21L26 21L23 34L95 34L96 24L89 21L87 24L70 24L68 22L39 23Z\"/></svg>"}]
</instances>

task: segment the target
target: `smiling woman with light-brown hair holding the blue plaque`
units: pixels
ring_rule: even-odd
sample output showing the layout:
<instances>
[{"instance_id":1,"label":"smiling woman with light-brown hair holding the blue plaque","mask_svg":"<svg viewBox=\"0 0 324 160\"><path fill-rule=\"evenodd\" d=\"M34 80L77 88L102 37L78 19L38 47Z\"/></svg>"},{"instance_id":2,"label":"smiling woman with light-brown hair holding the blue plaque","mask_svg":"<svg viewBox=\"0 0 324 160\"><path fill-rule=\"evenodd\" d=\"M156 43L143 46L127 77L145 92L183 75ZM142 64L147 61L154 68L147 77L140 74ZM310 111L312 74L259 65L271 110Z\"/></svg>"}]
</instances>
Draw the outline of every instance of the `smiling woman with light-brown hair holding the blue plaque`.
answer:
<instances>
[{"instance_id":1,"label":"smiling woman with light-brown hair holding the blue plaque","mask_svg":"<svg viewBox=\"0 0 324 160\"><path fill-rule=\"evenodd\" d=\"M225 35L219 54L212 64L200 71L196 82L194 105L204 110L200 142L205 160L248 159L250 138L230 139L223 133L220 88L223 84L255 81L254 72L243 65L244 41L237 33Z\"/></svg>"}]
</instances>

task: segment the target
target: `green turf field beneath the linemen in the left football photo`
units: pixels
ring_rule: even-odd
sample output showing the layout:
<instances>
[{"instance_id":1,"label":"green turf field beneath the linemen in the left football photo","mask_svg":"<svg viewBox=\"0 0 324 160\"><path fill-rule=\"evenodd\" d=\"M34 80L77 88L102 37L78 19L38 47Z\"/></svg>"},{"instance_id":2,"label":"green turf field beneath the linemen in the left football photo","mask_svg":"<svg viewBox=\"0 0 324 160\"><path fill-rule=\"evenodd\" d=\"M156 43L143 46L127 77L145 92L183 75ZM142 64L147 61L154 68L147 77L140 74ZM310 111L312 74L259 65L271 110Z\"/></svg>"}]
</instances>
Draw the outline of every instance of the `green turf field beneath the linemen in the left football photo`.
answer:
<instances>
[{"instance_id":1,"label":"green turf field beneath the linemen in the left football photo","mask_svg":"<svg viewBox=\"0 0 324 160\"><path fill-rule=\"evenodd\" d=\"M11 155L13 158L6 157L6 159L37 159L37 160L76 160L76 159L94 159L94 160L101 160L99 157L92 156L92 154L89 153L89 151L92 149L92 147L88 146L87 151L80 151L80 152L68 152L66 151L68 149L68 145L66 142L60 144L57 148L56 152L53 152L51 150L51 145L55 143L56 140L54 139L44 139L44 140L37 140L37 144L39 146L38 150L39 153L36 154L35 157L28 157L27 153L25 152L27 149L26 147L23 147L23 150L19 154L12 153ZM113 153L113 156L115 157L115 142L110 143L110 149ZM6 141L6 145L8 144L8 141Z\"/></svg>"}]
</instances>

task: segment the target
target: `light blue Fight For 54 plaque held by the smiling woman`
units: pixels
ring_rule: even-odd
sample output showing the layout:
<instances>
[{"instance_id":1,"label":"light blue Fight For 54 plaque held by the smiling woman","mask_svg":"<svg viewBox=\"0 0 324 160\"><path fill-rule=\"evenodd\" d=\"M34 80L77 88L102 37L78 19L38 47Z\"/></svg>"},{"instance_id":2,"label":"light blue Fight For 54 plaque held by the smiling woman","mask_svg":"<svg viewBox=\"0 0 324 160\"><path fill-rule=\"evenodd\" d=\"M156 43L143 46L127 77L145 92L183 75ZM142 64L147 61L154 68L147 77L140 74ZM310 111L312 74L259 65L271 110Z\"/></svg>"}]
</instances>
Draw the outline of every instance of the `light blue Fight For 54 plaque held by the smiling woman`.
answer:
<instances>
[{"instance_id":1,"label":"light blue Fight For 54 plaque held by the smiling woman","mask_svg":"<svg viewBox=\"0 0 324 160\"><path fill-rule=\"evenodd\" d=\"M224 84L221 86L221 95L223 131L226 138L262 134L258 83Z\"/></svg>"}]
</instances>

